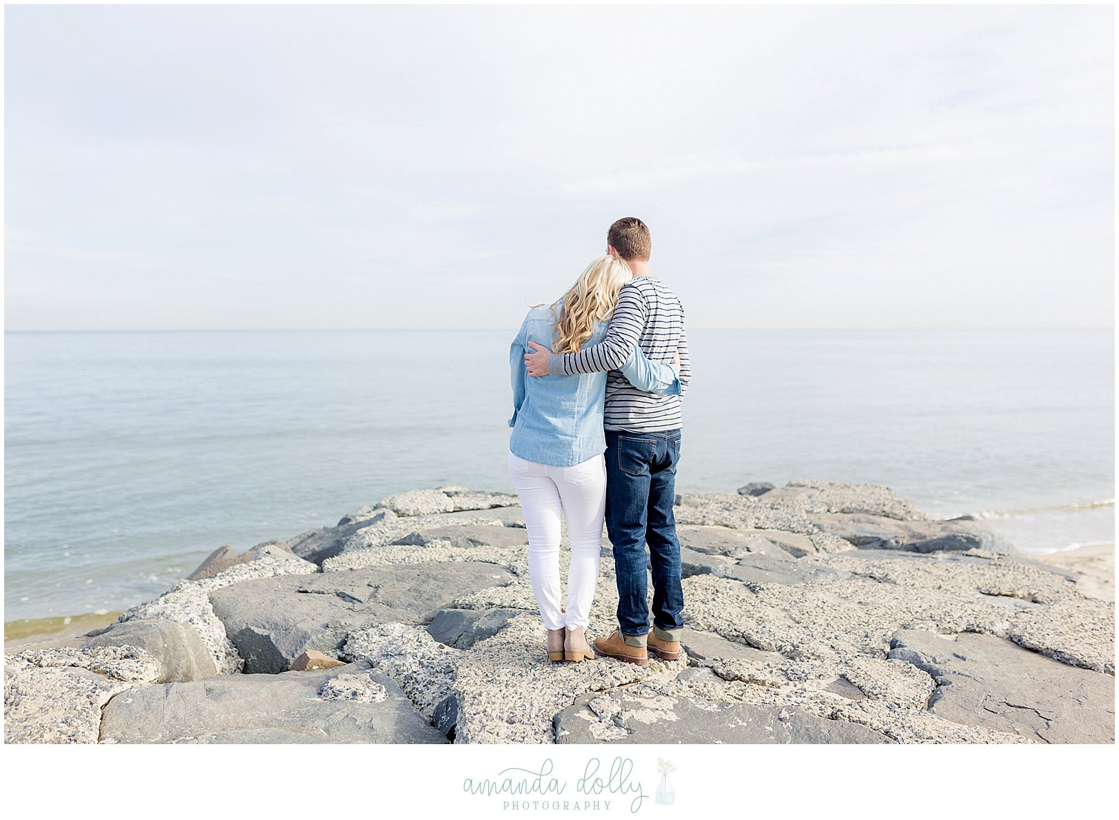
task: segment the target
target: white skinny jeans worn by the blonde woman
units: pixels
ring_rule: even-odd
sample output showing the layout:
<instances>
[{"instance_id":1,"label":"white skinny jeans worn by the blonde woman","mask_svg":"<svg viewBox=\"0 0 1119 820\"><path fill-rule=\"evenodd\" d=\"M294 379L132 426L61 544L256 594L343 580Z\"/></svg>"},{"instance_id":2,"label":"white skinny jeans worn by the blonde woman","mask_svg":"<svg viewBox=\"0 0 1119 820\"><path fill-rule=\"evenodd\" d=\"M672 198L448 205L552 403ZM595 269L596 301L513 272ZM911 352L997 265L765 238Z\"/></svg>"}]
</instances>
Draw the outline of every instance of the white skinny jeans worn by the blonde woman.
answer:
<instances>
[{"instance_id":1,"label":"white skinny jeans worn by the blonde woman","mask_svg":"<svg viewBox=\"0 0 1119 820\"><path fill-rule=\"evenodd\" d=\"M509 475L528 528L528 576L547 629L590 622L599 581L602 522L606 509L606 462L595 455L574 466L551 466L509 453ZM567 519L571 567L567 614L560 609L560 511Z\"/></svg>"}]
</instances>

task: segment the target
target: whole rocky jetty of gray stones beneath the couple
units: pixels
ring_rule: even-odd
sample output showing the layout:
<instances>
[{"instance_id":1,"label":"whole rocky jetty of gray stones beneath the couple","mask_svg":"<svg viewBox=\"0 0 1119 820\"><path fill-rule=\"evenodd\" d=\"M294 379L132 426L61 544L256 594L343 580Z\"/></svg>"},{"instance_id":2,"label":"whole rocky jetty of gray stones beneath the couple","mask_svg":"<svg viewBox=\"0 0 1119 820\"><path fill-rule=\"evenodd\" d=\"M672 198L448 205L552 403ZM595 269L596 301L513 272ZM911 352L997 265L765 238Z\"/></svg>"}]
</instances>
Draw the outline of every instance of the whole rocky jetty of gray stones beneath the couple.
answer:
<instances>
[{"instance_id":1,"label":"whole rocky jetty of gray stones beneath the couple","mask_svg":"<svg viewBox=\"0 0 1119 820\"><path fill-rule=\"evenodd\" d=\"M1113 742L1113 602L982 521L818 481L676 516L678 661L548 661L517 498L415 490L6 648L6 741ZM592 637L614 625L603 555Z\"/></svg>"}]
</instances>

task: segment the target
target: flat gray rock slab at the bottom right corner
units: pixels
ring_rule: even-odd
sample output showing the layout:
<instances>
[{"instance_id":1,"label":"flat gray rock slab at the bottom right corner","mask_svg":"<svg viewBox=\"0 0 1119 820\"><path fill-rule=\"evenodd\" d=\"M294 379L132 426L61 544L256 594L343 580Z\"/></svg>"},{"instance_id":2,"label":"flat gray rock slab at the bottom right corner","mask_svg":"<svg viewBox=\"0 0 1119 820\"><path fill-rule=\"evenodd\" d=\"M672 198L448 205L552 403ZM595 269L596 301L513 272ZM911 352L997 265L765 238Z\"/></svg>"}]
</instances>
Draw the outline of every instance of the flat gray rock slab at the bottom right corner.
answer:
<instances>
[{"instance_id":1,"label":"flat gray rock slab at the bottom right corner","mask_svg":"<svg viewBox=\"0 0 1119 820\"><path fill-rule=\"evenodd\" d=\"M1044 743L1115 742L1111 676L993 635L952 638L900 630L890 651L890 658L913 663L937 681L929 710L938 717Z\"/></svg>"}]
</instances>

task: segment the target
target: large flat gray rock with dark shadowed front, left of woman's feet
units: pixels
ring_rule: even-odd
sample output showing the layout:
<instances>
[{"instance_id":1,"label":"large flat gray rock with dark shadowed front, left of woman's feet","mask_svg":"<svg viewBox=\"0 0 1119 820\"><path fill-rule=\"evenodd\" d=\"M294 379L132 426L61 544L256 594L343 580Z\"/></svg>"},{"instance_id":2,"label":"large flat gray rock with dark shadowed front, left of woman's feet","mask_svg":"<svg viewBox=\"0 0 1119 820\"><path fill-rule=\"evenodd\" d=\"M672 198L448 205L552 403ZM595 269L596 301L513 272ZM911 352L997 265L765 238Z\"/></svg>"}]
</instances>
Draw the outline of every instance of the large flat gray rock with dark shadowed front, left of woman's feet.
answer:
<instances>
[{"instance_id":1,"label":"large flat gray rock with dark shadowed front, left of woman's feet","mask_svg":"<svg viewBox=\"0 0 1119 820\"><path fill-rule=\"evenodd\" d=\"M248 581L213 592L210 603L245 671L275 673L307 649L332 654L357 630L427 623L454 598L510 579L495 564L401 564Z\"/></svg>"}]
</instances>

